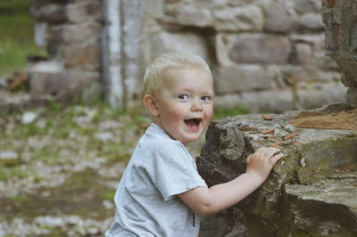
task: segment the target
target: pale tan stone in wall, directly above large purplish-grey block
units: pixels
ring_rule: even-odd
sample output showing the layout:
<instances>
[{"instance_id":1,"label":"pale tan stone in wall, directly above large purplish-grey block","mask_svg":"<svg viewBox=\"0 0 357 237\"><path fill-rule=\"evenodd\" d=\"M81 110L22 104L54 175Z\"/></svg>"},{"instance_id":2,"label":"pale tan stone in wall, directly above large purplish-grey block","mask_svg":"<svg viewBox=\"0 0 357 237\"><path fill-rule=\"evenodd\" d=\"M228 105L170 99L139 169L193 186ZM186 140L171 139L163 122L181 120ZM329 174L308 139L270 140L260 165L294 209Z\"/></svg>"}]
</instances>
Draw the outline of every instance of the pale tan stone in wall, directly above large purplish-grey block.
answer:
<instances>
[{"instance_id":1,"label":"pale tan stone in wall, directly above large purplish-grey block","mask_svg":"<svg viewBox=\"0 0 357 237\"><path fill-rule=\"evenodd\" d=\"M255 5L225 8L213 15L214 29L221 31L259 31L264 24L262 10Z\"/></svg>"}]
</instances>

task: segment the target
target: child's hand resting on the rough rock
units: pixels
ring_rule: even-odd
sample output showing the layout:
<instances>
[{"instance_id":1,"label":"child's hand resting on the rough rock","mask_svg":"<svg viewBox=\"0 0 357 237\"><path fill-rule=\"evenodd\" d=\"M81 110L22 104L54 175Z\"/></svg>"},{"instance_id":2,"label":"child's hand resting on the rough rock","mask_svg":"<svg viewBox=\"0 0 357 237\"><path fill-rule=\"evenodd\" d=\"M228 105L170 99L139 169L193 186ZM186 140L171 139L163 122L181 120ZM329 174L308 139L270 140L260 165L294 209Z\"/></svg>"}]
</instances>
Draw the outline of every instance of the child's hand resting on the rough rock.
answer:
<instances>
[{"instance_id":1,"label":"child's hand resting on the rough rock","mask_svg":"<svg viewBox=\"0 0 357 237\"><path fill-rule=\"evenodd\" d=\"M274 155L278 151L280 150L273 147L259 148L246 159L246 173L256 176L260 182L264 182L269 176L271 168L274 167L279 159L284 157L281 153Z\"/></svg>"}]
</instances>

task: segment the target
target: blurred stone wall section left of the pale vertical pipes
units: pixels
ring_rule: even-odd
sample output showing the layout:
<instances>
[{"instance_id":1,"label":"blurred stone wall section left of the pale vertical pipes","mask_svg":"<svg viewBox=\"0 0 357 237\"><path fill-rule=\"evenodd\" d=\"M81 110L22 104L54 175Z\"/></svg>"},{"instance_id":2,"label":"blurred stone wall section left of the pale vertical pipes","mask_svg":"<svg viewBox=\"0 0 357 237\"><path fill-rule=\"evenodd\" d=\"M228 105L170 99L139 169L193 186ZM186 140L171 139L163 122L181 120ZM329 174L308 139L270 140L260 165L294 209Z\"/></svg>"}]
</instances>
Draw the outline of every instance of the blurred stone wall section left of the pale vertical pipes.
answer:
<instances>
[{"instance_id":1,"label":"blurred stone wall section left of the pale vertical pipes","mask_svg":"<svg viewBox=\"0 0 357 237\"><path fill-rule=\"evenodd\" d=\"M101 93L102 6L97 0L30 0L46 61L30 61L32 99L73 101Z\"/></svg>"}]
</instances>

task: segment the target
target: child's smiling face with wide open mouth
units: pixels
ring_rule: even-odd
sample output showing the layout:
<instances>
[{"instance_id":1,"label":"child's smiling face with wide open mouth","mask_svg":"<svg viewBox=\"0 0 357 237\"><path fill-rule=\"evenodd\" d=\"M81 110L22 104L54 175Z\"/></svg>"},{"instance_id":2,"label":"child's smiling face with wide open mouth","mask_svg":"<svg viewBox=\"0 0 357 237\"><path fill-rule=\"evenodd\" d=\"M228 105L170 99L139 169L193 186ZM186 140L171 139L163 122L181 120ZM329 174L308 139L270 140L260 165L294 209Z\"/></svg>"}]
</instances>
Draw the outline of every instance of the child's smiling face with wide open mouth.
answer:
<instances>
[{"instance_id":1,"label":"child's smiling face with wide open mouth","mask_svg":"<svg viewBox=\"0 0 357 237\"><path fill-rule=\"evenodd\" d=\"M212 74L203 69L168 69L163 78L155 121L173 139L185 145L194 142L212 118Z\"/></svg>"}]
</instances>

